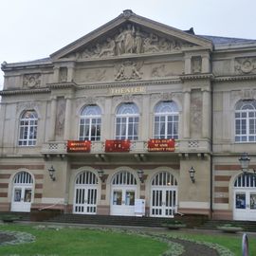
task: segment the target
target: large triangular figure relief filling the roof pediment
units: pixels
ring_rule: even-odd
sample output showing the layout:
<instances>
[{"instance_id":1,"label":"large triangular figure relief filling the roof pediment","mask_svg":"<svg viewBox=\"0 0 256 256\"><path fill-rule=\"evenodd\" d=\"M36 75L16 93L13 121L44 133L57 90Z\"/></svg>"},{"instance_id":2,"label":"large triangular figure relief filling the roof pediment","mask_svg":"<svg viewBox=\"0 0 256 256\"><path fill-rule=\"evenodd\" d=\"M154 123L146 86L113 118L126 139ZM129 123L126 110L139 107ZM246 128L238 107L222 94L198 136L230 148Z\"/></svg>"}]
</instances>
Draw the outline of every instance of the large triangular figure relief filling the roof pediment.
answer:
<instances>
[{"instance_id":1,"label":"large triangular figure relief filling the roof pediment","mask_svg":"<svg viewBox=\"0 0 256 256\"><path fill-rule=\"evenodd\" d=\"M119 31L114 36L86 46L75 55L77 59L90 59L128 54L172 52L192 46L194 45L185 41L164 38L155 33L142 31L140 27L133 24L127 24L125 27L119 27Z\"/></svg>"}]
</instances>

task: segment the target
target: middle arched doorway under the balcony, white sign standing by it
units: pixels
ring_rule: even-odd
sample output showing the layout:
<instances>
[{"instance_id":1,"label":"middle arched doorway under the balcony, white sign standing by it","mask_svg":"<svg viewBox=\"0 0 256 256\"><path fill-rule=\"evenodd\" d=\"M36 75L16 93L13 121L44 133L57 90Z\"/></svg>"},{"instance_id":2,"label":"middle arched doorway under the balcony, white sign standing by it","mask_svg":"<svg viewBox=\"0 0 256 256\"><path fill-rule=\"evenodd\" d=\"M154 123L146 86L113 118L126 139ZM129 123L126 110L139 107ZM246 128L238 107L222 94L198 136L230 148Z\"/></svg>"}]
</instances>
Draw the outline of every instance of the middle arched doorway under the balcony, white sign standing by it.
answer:
<instances>
[{"instance_id":1,"label":"middle arched doorway under the balcony, white sign standing by it","mask_svg":"<svg viewBox=\"0 0 256 256\"><path fill-rule=\"evenodd\" d=\"M137 180L134 174L122 171L116 174L111 184L111 215L135 215Z\"/></svg>"}]
</instances>

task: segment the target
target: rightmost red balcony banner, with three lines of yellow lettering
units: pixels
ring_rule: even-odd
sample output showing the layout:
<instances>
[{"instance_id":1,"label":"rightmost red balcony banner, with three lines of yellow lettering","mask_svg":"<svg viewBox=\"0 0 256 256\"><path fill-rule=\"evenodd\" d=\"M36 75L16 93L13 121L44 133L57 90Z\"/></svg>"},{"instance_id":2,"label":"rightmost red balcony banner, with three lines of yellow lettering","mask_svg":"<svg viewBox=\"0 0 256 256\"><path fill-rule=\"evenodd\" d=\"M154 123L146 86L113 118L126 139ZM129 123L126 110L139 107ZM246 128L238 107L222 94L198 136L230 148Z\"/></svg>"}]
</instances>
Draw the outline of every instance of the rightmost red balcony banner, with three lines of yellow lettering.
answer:
<instances>
[{"instance_id":1,"label":"rightmost red balcony banner, with three lines of yellow lettering","mask_svg":"<svg viewBox=\"0 0 256 256\"><path fill-rule=\"evenodd\" d=\"M175 140L169 139L157 139L152 138L148 141L149 152L174 152L175 151Z\"/></svg>"}]
</instances>

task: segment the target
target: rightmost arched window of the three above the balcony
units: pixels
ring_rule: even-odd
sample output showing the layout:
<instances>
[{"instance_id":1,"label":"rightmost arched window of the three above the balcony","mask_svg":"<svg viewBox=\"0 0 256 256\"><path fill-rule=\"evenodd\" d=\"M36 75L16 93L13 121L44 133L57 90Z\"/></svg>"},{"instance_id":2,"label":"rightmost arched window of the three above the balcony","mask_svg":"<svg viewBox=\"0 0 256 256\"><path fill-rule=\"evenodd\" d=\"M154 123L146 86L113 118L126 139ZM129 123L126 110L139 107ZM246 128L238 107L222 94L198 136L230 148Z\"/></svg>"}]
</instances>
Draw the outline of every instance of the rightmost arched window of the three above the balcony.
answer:
<instances>
[{"instance_id":1,"label":"rightmost arched window of the three above the balcony","mask_svg":"<svg viewBox=\"0 0 256 256\"><path fill-rule=\"evenodd\" d=\"M161 101L155 106L154 137L178 138L178 109L174 101Z\"/></svg>"}]
</instances>

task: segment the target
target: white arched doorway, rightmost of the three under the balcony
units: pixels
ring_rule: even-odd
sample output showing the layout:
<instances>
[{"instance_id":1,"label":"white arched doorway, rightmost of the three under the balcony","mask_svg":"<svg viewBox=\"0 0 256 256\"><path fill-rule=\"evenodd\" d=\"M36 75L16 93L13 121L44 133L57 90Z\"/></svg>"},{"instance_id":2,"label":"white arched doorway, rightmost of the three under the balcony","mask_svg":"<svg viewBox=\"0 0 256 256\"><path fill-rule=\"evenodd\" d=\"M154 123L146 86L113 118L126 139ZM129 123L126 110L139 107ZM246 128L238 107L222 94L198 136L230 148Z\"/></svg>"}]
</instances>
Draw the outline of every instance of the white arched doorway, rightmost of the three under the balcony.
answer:
<instances>
[{"instance_id":1,"label":"white arched doorway, rightmost of the three under the balcony","mask_svg":"<svg viewBox=\"0 0 256 256\"><path fill-rule=\"evenodd\" d=\"M173 217L177 210L177 181L173 174L155 174L151 184L151 210L154 217Z\"/></svg>"}]
</instances>

